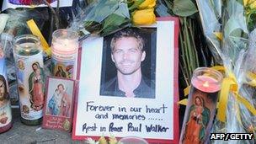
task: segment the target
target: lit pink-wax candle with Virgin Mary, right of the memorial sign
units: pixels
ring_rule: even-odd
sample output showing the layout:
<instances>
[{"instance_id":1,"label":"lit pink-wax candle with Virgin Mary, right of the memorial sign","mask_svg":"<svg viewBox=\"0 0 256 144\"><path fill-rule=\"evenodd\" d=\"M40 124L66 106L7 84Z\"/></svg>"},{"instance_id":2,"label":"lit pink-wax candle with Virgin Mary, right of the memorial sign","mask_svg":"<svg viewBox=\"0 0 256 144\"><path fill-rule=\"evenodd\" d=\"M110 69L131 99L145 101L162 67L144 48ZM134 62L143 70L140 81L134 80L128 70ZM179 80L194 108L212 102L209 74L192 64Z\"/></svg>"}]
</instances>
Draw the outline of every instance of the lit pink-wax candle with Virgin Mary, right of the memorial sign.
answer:
<instances>
[{"instance_id":1,"label":"lit pink-wax candle with Virgin Mary, right of the memorial sign","mask_svg":"<svg viewBox=\"0 0 256 144\"><path fill-rule=\"evenodd\" d=\"M180 143L205 143L209 137L221 81L221 72L211 68L200 67L193 73Z\"/></svg>"}]
</instances>

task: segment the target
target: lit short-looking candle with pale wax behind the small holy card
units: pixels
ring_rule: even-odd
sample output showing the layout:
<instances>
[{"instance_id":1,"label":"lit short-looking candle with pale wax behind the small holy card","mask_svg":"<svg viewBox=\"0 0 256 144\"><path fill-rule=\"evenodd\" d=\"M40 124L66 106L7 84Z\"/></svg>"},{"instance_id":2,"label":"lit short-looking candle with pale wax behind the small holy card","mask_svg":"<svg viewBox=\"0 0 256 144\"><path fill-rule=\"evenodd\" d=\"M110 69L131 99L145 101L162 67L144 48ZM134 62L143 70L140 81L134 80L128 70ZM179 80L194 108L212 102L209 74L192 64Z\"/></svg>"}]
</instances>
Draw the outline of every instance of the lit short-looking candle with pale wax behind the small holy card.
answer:
<instances>
[{"instance_id":1,"label":"lit short-looking candle with pale wax behind the small holy card","mask_svg":"<svg viewBox=\"0 0 256 144\"><path fill-rule=\"evenodd\" d=\"M58 29L52 34L51 66L56 77L76 78L78 34L68 29Z\"/></svg>"}]
</instances>

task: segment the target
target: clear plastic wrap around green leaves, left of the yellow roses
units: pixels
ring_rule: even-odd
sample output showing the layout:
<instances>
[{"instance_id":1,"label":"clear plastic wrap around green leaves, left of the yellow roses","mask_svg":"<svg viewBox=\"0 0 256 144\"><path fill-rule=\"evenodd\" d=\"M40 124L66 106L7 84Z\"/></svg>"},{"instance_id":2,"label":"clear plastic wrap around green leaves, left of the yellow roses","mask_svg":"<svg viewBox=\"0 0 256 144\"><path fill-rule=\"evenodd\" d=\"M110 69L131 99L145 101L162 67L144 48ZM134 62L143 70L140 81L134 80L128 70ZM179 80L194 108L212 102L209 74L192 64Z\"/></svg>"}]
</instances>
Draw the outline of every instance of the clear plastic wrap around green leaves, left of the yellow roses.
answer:
<instances>
[{"instance_id":1,"label":"clear plastic wrap around green leaves, left of the yellow roses","mask_svg":"<svg viewBox=\"0 0 256 144\"><path fill-rule=\"evenodd\" d=\"M120 1L95 1L78 13L70 29L80 35L109 35L131 25L127 3Z\"/></svg>"}]
</instances>

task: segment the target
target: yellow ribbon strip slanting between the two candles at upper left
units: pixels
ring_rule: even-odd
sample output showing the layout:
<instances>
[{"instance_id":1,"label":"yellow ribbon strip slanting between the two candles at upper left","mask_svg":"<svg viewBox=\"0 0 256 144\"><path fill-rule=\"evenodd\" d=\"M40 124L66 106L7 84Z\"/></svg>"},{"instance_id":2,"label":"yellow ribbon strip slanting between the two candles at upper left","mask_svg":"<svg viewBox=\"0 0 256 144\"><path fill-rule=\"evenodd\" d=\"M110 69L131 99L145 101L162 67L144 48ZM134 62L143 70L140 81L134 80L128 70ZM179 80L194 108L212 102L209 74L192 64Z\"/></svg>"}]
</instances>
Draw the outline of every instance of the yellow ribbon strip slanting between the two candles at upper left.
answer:
<instances>
[{"instance_id":1,"label":"yellow ribbon strip slanting between the two candles at upper left","mask_svg":"<svg viewBox=\"0 0 256 144\"><path fill-rule=\"evenodd\" d=\"M40 32L40 29L35 24L35 21L33 19L30 19L29 21L27 21L27 24L28 24L29 29L31 30L32 34L40 37L41 45L43 46L43 50L45 51L47 56L51 56L51 48L48 45L48 43L46 42L42 33Z\"/></svg>"}]
</instances>

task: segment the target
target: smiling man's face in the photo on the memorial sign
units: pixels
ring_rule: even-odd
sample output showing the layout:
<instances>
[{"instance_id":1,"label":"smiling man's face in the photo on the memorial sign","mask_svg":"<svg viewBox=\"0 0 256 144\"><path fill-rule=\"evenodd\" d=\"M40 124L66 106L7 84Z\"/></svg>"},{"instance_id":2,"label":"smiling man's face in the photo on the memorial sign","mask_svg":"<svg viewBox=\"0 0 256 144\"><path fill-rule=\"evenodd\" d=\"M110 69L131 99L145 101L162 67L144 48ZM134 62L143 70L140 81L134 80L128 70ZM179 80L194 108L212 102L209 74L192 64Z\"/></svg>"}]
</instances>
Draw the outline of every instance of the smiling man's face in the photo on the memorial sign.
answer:
<instances>
[{"instance_id":1,"label":"smiling man's face in the photo on the memorial sign","mask_svg":"<svg viewBox=\"0 0 256 144\"><path fill-rule=\"evenodd\" d=\"M136 72L141 67L141 61L144 61L145 56L145 51L141 52L133 37L123 37L117 40L111 54L115 67L124 75Z\"/></svg>"}]
</instances>

